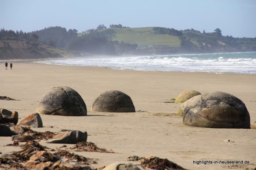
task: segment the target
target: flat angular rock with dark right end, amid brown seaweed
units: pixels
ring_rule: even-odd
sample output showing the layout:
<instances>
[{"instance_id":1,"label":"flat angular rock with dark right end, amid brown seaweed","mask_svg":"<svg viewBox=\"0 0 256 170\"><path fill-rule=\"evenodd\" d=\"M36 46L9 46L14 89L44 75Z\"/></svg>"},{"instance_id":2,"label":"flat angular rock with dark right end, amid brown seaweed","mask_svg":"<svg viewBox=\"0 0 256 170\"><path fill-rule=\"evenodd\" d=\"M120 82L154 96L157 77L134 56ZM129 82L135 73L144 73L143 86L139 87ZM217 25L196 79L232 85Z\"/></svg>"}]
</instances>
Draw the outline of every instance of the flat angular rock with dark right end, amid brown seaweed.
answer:
<instances>
[{"instance_id":1,"label":"flat angular rock with dark right end, amid brown seaweed","mask_svg":"<svg viewBox=\"0 0 256 170\"><path fill-rule=\"evenodd\" d=\"M56 143L56 144L76 144L77 142L87 141L87 132L81 132L79 130L69 130L56 134L53 137L53 140L48 141L47 143Z\"/></svg>"}]
</instances>

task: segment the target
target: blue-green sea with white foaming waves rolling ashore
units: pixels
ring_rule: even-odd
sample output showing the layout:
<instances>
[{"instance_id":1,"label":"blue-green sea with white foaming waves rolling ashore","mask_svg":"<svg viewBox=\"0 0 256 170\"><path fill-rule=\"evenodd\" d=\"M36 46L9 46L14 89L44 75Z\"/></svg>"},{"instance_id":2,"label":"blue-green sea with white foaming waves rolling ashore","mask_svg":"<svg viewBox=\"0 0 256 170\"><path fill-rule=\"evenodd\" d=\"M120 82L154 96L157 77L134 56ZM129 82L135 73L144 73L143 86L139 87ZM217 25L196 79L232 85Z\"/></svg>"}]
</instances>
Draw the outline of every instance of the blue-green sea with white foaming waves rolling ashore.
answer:
<instances>
[{"instance_id":1,"label":"blue-green sea with white foaming waves rolling ashore","mask_svg":"<svg viewBox=\"0 0 256 170\"><path fill-rule=\"evenodd\" d=\"M256 74L256 52L79 57L37 62L122 70Z\"/></svg>"}]
</instances>

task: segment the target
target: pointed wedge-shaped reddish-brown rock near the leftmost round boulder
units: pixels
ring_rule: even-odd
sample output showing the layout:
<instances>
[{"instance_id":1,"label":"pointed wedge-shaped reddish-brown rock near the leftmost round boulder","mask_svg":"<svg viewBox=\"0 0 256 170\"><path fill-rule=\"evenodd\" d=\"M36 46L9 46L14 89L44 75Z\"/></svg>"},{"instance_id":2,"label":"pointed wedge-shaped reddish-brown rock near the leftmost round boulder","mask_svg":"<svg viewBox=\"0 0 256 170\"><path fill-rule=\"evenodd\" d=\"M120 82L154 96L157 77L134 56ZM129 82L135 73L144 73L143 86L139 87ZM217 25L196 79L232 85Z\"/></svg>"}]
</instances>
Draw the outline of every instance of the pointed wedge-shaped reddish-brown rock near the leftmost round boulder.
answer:
<instances>
[{"instance_id":1,"label":"pointed wedge-shaped reddish-brown rock near the leftmost round boulder","mask_svg":"<svg viewBox=\"0 0 256 170\"><path fill-rule=\"evenodd\" d=\"M25 119L23 119L19 125L29 126L29 127L43 127L43 122L41 116L38 113L32 113Z\"/></svg>"}]
</instances>

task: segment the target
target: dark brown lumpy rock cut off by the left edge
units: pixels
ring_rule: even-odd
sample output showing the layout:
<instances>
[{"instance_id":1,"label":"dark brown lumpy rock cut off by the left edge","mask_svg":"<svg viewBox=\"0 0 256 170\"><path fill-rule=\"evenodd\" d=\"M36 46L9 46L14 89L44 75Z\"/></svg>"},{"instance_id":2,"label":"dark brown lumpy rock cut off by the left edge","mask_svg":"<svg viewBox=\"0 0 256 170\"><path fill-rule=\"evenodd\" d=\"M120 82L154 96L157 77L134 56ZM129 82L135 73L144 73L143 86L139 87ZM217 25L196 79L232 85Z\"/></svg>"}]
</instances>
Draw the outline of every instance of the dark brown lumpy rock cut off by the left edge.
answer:
<instances>
[{"instance_id":1,"label":"dark brown lumpy rock cut off by the left edge","mask_svg":"<svg viewBox=\"0 0 256 170\"><path fill-rule=\"evenodd\" d=\"M18 123L19 114L18 112L11 112L7 109L0 109L0 123L9 124L9 123Z\"/></svg>"}]
</instances>

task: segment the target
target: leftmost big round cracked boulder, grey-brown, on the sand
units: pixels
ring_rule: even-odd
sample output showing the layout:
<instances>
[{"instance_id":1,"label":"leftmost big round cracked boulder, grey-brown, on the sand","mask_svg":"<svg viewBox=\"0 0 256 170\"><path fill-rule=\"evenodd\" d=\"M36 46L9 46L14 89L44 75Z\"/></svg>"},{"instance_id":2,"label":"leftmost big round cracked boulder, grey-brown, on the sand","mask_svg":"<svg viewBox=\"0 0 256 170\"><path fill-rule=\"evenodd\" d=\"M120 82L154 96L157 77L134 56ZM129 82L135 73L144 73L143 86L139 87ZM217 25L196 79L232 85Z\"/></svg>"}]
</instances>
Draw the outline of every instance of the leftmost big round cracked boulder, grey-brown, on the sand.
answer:
<instances>
[{"instance_id":1,"label":"leftmost big round cracked boulder, grey-brown, on the sand","mask_svg":"<svg viewBox=\"0 0 256 170\"><path fill-rule=\"evenodd\" d=\"M83 98L70 87L54 87L48 90L36 112L45 115L87 116Z\"/></svg>"}]
</instances>

